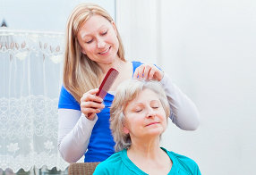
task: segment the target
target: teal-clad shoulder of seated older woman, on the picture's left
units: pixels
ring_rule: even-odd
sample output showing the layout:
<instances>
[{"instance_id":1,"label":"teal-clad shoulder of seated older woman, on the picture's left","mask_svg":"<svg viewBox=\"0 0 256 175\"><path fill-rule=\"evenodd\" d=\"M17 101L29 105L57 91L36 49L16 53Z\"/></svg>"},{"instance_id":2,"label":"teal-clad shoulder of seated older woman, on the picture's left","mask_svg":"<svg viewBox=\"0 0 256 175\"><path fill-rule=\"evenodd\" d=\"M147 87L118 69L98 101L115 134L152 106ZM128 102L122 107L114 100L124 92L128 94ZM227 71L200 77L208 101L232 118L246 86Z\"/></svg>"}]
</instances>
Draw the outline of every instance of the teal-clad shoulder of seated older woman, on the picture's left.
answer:
<instances>
[{"instance_id":1,"label":"teal-clad shoulder of seated older woman, on the picture's left","mask_svg":"<svg viewBox=\"0 0 256 175\"><path fill-rule=\"evenodd\" d=\"M112 154L105 161L100 162L93 174L113 174L122 166L122 151Z\"/></svg>"}]
</instances>

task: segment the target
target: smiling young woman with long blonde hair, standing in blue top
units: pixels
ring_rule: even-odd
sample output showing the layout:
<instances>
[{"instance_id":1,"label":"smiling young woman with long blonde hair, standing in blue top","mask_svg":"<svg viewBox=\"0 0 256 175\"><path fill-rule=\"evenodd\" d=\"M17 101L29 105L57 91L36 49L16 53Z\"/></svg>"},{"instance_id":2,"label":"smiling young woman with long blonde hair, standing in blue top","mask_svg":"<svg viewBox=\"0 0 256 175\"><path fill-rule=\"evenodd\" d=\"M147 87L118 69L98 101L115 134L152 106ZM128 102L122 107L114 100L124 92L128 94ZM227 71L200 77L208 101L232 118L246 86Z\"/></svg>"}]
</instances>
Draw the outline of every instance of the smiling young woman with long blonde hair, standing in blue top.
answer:
<instances>
[{"instance_id":1,"label":"smiling young woman with long blonde hair, standing in blue top","mask_svg":"<svg viewBox=\"0 0 256 175\"><path fill-rule=\"evenodd\" d=\"M101 99L95 95L110 68L119 75ZM97 4L78 5L67 23L64 85L58 104L58 148L65 161L76 162L84 154L84 162L102 162L115 153L109 107L117 85L132 78L158 80L168 97L170 119L181 129L197 129L196 106L166 73L152 64L125 60L121 37L108 12Z\"/></svg>"}]
</instances>

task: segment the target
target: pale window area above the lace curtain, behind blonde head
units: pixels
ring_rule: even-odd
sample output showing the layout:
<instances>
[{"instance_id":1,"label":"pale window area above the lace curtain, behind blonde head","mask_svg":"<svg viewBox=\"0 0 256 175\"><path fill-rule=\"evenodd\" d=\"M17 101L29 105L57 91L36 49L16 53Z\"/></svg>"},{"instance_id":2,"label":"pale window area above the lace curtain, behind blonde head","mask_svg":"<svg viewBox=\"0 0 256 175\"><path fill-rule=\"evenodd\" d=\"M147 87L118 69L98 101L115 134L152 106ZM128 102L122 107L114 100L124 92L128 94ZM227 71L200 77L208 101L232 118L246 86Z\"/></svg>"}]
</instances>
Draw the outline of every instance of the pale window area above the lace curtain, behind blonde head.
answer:
<instances>
[{"instance_id":1,"label":"pale window area above the lace curtain, behind blonde head","mask_svg":"<svg viewBox=\"0 0 256 175\"><path fill-rule=\"evenodd\" d=\"M103 6L115 18L115 0L1 0L0 22L10 29L64 32L73 8L80 3Z\"/></svg>"}]
</instances>

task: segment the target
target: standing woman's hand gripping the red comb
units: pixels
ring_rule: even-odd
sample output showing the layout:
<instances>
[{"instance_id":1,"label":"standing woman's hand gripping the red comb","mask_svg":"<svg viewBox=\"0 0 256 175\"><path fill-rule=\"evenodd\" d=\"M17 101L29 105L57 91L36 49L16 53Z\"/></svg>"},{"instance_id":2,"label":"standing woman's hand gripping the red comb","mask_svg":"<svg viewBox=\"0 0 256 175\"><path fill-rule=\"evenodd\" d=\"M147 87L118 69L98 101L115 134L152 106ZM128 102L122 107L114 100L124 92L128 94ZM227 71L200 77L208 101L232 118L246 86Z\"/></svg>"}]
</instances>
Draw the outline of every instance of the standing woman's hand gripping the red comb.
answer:
<instances>
[{"instance_id":1,"label":"standing woman's hand gripping the red comb","mask_svg":"<svg viewBox=\"0 0 256 175\"><path fill-rule=\"evenodd\" d=\"M85 117L90 121L93 121L95 113L100 112L100 110L105 107L104 104L101 104L103 99L96 96L97 93L98 88L94 88L81 96L81 112L83 112Z\"/></svg>"}]
</instances>

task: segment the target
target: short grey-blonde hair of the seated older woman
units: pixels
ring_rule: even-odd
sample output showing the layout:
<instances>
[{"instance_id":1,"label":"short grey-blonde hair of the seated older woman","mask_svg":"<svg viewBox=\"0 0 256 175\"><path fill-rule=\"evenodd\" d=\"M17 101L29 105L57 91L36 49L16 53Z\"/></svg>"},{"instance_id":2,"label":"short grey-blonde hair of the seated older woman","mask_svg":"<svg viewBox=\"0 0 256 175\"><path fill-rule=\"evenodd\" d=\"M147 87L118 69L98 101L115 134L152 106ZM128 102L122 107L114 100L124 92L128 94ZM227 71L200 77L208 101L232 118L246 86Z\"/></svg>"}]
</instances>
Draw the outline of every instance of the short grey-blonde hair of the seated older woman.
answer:
<instances>
[{"instance_id":1,"label":"short grey-blonde hair of the seated older woman","mask_svg":"<svg viewBox=\"0 0 256 175\"><path fill-rule=\"evenodd\" d=\"M128 149L132 140L129 134L125 134L124 129L124 110L134 98L139 96L142 90L150 89L155 92L166 112L166 118L170 115L170 106L166 93L158 81L147 81L140 79L128 79L121 83L116 90L113 104L110 108L110 129L115 140L115 151Z\"/></svg>"}]
</instances>

